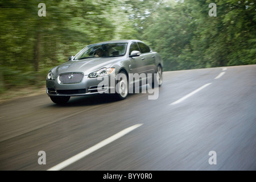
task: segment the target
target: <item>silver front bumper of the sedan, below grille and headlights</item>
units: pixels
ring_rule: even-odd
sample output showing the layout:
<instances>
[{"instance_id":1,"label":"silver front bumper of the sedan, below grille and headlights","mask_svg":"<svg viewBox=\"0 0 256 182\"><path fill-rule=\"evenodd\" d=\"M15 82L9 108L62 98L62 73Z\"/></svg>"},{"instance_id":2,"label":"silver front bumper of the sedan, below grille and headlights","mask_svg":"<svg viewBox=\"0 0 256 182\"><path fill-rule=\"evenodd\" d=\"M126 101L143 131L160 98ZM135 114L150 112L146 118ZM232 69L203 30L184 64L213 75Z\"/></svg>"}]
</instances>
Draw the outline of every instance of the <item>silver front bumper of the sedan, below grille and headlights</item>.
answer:
<instances>
[{"instance_id":1,"label":"silver front bumper of the sedan, below grille and headlights","mask_svg":"<svg viewBox=\"0 0 256 182\"><path fill-rule=\"evenodd\" d=\"M84 76L77 84L60 84L55 80L46 80L48 96L85 96L99 93L115 93L115 76L89 78Z\"/></svg>"}]
</instances>

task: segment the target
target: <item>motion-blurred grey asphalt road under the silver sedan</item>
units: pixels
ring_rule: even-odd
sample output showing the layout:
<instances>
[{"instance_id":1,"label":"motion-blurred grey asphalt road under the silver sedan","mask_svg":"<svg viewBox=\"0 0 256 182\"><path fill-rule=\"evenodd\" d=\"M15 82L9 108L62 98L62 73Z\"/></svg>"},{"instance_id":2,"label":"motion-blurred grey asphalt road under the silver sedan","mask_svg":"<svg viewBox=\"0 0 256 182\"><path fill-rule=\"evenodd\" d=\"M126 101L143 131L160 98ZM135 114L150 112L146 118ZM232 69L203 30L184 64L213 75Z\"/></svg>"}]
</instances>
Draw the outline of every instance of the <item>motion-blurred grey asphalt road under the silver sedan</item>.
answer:
<instances>
[{"instance_id":1,"label":"motion-blurred grey asphalt road under the silver sedan","mask_svg":"<svg viewBox=\"0 0 256 182\"><path fill-rule=\"evenodd\" d=\"M164 72L158 99L149 95L2 102L0 170L256 169L256 65Z\"/></svg>"}]
</instances>

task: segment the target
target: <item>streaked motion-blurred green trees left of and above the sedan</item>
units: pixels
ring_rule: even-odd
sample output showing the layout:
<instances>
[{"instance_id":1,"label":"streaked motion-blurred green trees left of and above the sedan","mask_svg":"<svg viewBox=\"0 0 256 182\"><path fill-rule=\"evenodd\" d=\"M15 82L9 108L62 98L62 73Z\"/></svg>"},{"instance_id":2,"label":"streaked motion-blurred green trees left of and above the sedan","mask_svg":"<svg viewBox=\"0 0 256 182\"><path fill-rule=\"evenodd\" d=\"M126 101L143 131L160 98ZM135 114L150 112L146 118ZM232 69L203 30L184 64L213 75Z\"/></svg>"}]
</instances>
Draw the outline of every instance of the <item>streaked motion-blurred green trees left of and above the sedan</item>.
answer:
<instances>
[{"instance_id":1,"label":"streaked motion-blurred green trees left of and above the sedan","mask_svg":"<svg viewBox=\"0 0 256 182\"><path fill-rule=\"evenodd\" d=\"M46 16L38 16L39 3L45 3ZM45 84L50 68L88 44L134 38L137 31L121 5L118 0L1 1L0 92Z\"/></svg>"}]
</instances>

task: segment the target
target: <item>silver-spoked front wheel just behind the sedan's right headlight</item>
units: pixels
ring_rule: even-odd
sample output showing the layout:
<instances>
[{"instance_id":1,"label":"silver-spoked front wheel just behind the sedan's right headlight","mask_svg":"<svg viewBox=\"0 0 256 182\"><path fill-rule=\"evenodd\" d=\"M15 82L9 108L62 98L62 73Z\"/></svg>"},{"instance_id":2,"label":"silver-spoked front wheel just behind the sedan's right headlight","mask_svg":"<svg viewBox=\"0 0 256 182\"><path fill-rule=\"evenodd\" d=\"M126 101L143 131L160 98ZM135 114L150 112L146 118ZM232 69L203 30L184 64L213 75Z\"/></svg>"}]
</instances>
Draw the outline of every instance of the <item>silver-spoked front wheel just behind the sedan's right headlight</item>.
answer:
<instances>
[{"instance_id":1,"label":"silver-spoked front wheel just behind the sedan's right headlight","mask_svg":"<svg viewBox=\"0 0 256 182\"><path fill-rule=\"evenodd\" d=\"M117 84L115 85L115 97L118 100L124 100L126 99L128 95L129 85L128 85L128 77L125 74L125 72L118 73L118 77L121 78L117 81Z\"/></svg>"}]
</instances>

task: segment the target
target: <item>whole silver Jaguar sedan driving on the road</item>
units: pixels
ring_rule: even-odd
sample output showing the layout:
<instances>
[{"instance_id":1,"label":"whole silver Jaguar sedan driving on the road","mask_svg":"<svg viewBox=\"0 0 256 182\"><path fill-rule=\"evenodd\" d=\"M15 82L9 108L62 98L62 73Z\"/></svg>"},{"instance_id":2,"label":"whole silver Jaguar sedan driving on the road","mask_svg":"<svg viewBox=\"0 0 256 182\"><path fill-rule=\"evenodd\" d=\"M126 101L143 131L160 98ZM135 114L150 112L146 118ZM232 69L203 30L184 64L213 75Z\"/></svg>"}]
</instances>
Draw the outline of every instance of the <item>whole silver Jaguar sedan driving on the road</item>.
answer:
<instances>
[{"instance_id":1,"label":"whole silver Jaguar sedan driving on the road","mask_svg":"<svg viewBox=\"0 0 256 182\"><path fill-rule=\"evenodd\" d=\"M71 96L109 93L123 100L135 84L162 85L163 61L140 40L117 40L90 44L64 64L52 68L46 92L56 104ZM133 87L134 86L134 87Z\"/></svg>"}]
</instances>

